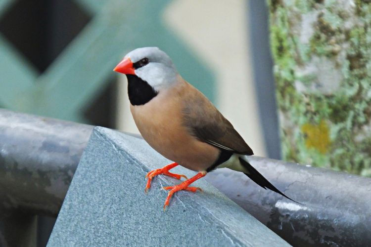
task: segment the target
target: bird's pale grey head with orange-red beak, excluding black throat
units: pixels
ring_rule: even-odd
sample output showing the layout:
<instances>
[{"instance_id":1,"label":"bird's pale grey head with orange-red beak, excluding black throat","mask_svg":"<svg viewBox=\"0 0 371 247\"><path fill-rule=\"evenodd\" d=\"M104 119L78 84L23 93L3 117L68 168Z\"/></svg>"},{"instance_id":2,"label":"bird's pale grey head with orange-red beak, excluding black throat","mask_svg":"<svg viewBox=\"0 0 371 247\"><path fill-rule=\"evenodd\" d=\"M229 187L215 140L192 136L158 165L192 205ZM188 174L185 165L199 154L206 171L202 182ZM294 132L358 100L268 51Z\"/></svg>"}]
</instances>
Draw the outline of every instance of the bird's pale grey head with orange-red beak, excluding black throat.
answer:
<instances>
[{"instance_id":1,"label":"bird's pale grey head with orange-red beak, excluding black throat","mask_svg":"<svg viewBox=\"0 0 371 247\"><path fill-rule=\"evenodd\" d=\"M170 57L158 47L137 48L124 57L113 69L116 72L137 76L155 91L160 91L177 81L178 72Z\"/></svg>"}]
</instances>

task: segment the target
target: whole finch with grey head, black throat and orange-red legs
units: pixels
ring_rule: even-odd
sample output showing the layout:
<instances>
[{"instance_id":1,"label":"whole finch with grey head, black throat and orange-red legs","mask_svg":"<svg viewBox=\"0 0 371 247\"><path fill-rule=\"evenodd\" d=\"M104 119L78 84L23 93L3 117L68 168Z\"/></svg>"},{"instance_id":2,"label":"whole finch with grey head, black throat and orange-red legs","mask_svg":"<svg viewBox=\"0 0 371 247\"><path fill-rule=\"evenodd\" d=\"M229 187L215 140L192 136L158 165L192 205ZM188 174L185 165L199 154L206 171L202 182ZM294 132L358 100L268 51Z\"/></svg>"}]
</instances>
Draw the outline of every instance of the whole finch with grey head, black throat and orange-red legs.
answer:
<instances>
[{"instance_id":1,"label":"whole finch with grey head, black throat and orange-red legs","mask_svg":"<svg viewBox=\"0 0 371 247\"><path fill-rule=\"evenodd\" d=\"M202 191L189 185L223 167L243 172L264 189L294 201L250 165L247 157L254 154L252 149L210 100L180 76L164 51L158 47L134 49L113 71L125 74L128 79L130 110L141 136L173 161L146 174L144 191L149 190L153 177L159 174L186 179L178 185L163 187L169 191L164 210L174 193ZM188 179L169 171L178 165L197 174Z\"/></svg>"}]
</instances>

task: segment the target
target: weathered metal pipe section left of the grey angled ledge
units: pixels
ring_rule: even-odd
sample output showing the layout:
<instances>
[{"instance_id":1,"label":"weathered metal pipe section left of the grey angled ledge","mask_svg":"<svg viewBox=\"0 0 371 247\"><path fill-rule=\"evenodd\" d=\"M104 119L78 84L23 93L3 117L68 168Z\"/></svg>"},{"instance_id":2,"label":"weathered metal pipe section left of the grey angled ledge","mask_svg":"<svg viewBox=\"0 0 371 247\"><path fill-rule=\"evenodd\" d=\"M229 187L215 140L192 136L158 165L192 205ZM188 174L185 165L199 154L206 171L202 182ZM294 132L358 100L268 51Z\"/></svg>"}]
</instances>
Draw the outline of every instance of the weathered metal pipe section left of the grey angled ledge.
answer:
<instances>
[{"instance_id":1,"label":"weathered metal pipe section left of the grey angled ledge","mask_svg":"<svg viewBox=\"0 0 371 247\"><path fill-rule=\"evenodd\" d=\"M92 130L0 109L0 206L56 216Z\"/></svg>"}]
</instances>

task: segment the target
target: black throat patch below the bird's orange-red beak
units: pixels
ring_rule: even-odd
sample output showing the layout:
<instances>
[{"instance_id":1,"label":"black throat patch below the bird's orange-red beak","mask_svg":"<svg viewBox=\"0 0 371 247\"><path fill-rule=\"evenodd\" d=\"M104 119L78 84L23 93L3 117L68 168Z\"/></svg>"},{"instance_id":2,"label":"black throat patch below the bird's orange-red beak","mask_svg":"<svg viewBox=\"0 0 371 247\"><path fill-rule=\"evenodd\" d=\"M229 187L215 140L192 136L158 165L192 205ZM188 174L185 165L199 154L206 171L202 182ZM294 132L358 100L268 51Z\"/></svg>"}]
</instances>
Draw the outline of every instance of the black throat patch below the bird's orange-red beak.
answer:
<instances>
[{"instance_id":1,"label":"black throat patch below the bird's orange-red beak","mask_svg":"<svg viewBox=\"0 0 371 247\"><path fill-rule=\"evenodd\" d=\"M138 76L126 75L126 78L128 78L129 100L133 106L144 105L158 94L153 87Z\"/></svg>"}]
</instances>

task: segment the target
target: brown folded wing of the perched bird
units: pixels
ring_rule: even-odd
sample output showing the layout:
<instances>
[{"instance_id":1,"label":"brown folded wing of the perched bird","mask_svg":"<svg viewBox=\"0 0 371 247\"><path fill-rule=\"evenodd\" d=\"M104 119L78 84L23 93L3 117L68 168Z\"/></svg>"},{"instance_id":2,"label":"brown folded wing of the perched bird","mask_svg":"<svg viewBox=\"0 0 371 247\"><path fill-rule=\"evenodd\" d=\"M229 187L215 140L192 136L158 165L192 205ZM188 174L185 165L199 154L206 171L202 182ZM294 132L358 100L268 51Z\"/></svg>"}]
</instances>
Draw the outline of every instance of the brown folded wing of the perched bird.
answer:
<instances>
[{"instance_id":1,"label":"brown folded wing of the perched bird","mask_svg":"<svg viewBox=\"0 0 371 247\"><path fill-rule=\"evenodd\" d=\"M185 126L200 141L232 153L253 155L233 125L197 89L189 85L184 100Z\"/></svg>"}]
</instances>

